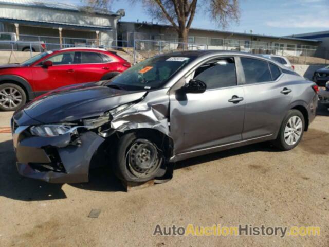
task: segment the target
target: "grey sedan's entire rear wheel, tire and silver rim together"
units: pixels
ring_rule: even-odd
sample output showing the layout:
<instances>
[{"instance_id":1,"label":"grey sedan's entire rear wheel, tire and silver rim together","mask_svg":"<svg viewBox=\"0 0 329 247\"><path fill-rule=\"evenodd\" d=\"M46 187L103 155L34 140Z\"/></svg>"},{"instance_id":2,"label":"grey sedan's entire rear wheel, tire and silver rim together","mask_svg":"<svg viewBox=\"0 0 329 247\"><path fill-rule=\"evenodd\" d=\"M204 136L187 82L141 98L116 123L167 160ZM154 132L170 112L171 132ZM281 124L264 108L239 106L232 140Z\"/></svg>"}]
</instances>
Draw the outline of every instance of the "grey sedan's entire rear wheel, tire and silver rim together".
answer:
<instances>
[{"instance_id":1,"label":"grey sedan's entire rear wheel, tire and silver rim together","mask_svg":"<svg viewBox=\"0 0 329 247\"><path fill-rule=\"evenodd\" d=\"M290 110L283 119L277 139L273 145L280 150L291 150L301 141L305 129L305 119L298 110Z\"/></svg>"}]
</instances>

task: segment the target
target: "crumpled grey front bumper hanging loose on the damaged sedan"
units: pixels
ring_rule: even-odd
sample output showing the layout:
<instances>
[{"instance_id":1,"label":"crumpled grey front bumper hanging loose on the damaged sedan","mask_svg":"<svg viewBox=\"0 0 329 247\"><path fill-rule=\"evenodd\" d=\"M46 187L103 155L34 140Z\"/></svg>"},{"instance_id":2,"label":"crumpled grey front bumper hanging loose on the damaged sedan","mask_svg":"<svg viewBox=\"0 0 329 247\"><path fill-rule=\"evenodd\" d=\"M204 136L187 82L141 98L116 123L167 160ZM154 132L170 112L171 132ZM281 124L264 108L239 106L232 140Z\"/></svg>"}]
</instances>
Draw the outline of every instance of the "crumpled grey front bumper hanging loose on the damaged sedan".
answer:
<instances>
[{"instance_id":1,"label":"crumpled grey front bumper hanging loose on the damaged sedan","mask_svg":"<svg viewBox=\"0 0 329 247\"><path fill-rule=\"evenodd\" d=\"M72 144L71 134L56 137L27 135L29 126L13 131L17 170L24 177L49 183L88 182L89 165L104 138L92 131L79 134Z\"/></svg>"}]
</instances>

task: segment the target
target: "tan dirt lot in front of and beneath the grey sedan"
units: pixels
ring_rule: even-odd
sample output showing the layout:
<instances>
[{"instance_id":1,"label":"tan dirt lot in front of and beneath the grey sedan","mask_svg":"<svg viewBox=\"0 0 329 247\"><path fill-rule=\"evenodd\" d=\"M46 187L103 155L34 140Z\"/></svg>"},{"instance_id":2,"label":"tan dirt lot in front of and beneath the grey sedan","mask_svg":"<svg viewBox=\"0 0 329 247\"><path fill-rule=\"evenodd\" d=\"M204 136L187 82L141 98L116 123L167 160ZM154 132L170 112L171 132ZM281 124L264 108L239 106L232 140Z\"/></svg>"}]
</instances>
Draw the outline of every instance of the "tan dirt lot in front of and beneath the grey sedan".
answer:
<instances>
[{"instance_id":1,"label":"tan dirt lot in front of and beneath the grey sedan","mask_svg":"<svg viewBox=\"0 0 329 247\"><path fill-rule=\"evenodd\" d=\"M0 127L12 113L0 112ZM296 149L257 144L177 164L174 178L129 193L107 169L87 184L20 177L0 129L0 246L329 246L329 111ZM101 209L99 218L88 218ZM320 226L321 236L152 236L156 224Z\"/></svg>"}]
</instances>

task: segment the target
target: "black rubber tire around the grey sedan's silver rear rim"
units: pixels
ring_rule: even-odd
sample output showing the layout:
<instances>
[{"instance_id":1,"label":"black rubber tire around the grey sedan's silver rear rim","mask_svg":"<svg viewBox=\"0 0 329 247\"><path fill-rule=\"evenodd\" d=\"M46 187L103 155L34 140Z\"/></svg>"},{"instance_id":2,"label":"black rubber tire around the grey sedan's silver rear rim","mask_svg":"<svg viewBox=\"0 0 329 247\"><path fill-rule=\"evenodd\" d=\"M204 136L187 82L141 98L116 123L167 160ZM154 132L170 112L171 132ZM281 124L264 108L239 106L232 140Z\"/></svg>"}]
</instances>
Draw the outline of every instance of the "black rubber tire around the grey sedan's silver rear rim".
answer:
<instances>
[{"instance_id":1,"label":"black rubber tire around the grey sedan's silver rear rim","mask_svg":"<svg viewBox=\"0 0 329 247\"><path fill-rule=\"evenodd\" d=\"M286 138L289 138L289 137L285 138L285 129L287 127L288 121L292 117L298 117L302 122L302 127L299 128L299 130L301 131L301 134L300 134L299 138L298 139L296 138L297 140L296 140L295 143L289 145L287 143L288 141L286 140ZM281 123L281 127L280 127L280 130L279 130L279 133L278 133L278 137L275 141L273 141L273 146L275 146L276 148L278 148L280 150L283 150L283 151L287 151L287 150L291 150L291 149L295 148L299 144L301 139L303 138L304 129L305 129L305 119L304 119L303 114L300 111L296 110L296 109L290 110L288 112L288 114L285 116L285 118L283 119L282 123ZM292 130L292 132L294 132L294 131ZM296 133L297 133L297 131L296 131ZM289 135L289 132L286 132L286 134Z\"/></svg>"}]
</instances>

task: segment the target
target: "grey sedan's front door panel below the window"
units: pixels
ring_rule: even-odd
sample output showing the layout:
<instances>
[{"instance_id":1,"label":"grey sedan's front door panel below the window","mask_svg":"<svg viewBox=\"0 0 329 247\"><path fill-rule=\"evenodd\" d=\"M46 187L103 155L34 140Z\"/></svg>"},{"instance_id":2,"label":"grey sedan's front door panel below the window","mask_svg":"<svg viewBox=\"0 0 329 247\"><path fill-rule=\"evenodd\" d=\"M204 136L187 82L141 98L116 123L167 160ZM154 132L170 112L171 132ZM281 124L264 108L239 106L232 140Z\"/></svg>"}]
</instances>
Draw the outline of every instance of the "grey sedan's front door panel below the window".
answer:
<instances>
[{"instance_id":1,"label":"grey sedan's front door panel below the window","mask_svg":"<svg viewBox=\"0 0 329 247\"><path fill-rule=\"evenodd\" d=\"M234 95L244 97L243 87L207 90L202 94L178 92L170 96L175 154L242 140L244 101L229 100Z\"/></svg>"}]
</instances>

